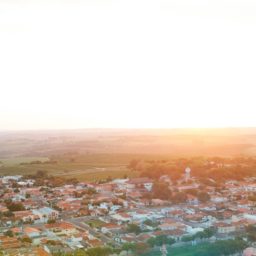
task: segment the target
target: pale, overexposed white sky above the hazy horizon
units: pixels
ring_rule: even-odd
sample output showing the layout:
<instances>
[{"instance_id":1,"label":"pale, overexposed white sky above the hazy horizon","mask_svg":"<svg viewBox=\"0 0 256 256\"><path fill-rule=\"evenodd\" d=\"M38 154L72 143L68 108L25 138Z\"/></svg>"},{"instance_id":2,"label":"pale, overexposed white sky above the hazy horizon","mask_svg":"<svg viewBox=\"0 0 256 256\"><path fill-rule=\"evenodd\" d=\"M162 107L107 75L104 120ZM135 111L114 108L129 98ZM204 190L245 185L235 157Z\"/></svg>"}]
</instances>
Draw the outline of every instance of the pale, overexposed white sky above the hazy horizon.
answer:
<instances>
[{"instance_id":1,"label":"pale, overexposed white sky above the hazy horizon","mask_svg":"<svg viewBox=\"0 0 256 256\"><path fill-rule=\"evenodd\" d=\"M0 130L256 126L254 0L0 0Z\"/></svg>"}]
</instances>

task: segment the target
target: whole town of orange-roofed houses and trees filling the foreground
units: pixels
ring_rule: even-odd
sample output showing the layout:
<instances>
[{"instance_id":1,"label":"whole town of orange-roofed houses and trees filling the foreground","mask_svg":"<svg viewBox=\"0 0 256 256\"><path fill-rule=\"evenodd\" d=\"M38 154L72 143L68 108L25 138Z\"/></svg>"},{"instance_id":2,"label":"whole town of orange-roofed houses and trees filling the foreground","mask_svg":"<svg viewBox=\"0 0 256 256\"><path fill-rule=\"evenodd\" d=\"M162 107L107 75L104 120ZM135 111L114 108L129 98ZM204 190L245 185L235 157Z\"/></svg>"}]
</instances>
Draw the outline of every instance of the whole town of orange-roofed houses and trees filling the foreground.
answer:
<instances>
[{"instance_id":1,"label":"whole town of orange-roofed houses and trees filling the foreground","mask_svg":"<svg viewBox=\"0 0 256 256\"><path fill-rule=\"evenodd\" d=\"M214 248L207 255L255 255L256 177L219 186L187 166L175 181L56 179L0 178L3 255L169 255L204 244Z\"/></svg>"}]
</instances>

